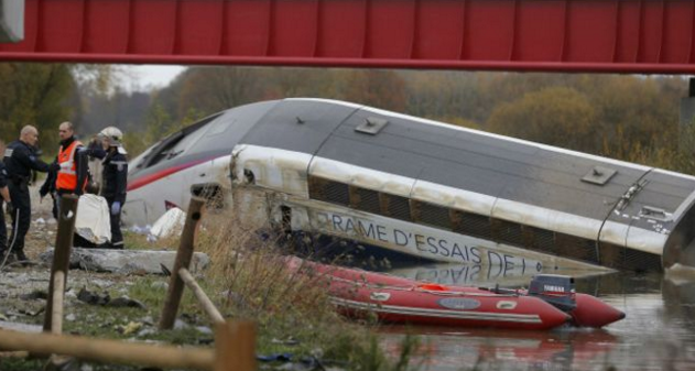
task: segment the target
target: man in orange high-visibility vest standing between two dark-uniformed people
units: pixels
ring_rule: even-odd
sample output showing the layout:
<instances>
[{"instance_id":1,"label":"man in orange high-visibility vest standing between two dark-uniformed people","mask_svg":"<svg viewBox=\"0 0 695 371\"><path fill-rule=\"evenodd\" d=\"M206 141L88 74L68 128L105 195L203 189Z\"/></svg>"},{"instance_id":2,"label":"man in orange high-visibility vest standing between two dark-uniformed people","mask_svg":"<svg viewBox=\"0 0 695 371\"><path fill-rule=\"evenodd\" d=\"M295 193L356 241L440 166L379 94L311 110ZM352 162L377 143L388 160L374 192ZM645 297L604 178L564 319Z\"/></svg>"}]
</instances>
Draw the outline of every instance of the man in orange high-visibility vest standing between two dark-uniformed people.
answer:
<instances>
[{"instance_id":1,"label":"man in orange high-visibility vest standing between two dark-uniformed people","mask_svg":"<svg viewBox=\"0 0 695 371\"><path fill-rule=\"evenodd\" d=\"M82 195L87 185L87 155L85 146L75 138L70 122L58 127L61 149L56 162L61 166L55 177L56 200L65 194Z\"/></svg>"}]
</instances>

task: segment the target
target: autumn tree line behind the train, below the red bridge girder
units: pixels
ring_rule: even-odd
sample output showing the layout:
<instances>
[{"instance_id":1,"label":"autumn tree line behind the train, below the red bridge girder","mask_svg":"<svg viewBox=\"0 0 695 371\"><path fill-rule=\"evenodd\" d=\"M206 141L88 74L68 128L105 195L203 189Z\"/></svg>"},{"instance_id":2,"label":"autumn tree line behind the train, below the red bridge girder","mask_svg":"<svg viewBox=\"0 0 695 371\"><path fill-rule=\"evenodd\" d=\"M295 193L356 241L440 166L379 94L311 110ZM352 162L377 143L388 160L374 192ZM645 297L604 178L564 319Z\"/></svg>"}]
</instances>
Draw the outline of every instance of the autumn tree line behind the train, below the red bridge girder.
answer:
<instances>
[{"instance_id":1,"label":"autumn tree line behind the train, below the red bridge girder","mask_svg":"<svg viewBox=\"0 0 695 371\"><path fill-rule=\"evenodd\" d=\"M694 130L678 124L682 77L341 68L191 67L165 88L124 90L112 66L0 64L2 139L66 119L88 135L127 133L134 155L239 105L286 97L348 100L535 142L695 174ZM6 130L8 128L8 130Z\"/></svg>"}]
</instances>

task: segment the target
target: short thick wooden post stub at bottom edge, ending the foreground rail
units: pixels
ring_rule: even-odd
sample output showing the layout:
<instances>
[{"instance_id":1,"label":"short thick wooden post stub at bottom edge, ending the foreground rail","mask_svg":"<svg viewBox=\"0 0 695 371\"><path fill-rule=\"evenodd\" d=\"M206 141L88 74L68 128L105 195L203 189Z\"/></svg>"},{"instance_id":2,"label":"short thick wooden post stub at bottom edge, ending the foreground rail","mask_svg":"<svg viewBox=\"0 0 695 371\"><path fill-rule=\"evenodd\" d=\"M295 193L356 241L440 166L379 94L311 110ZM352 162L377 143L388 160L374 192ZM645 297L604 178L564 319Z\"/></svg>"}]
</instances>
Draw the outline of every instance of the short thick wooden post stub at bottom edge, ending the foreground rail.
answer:
<instances>
[{"instance_id":1,"label":"short thick wooden post stub at bottom edge, ending the foreground rail","mask_svg":"<svg viewBox=\"0 0 695 371\"><path fill-rule=\"evenodd\" d=\"M215 328L214 371L256 370L256 324L227 321Z\"/></svg>"}]
</instances>

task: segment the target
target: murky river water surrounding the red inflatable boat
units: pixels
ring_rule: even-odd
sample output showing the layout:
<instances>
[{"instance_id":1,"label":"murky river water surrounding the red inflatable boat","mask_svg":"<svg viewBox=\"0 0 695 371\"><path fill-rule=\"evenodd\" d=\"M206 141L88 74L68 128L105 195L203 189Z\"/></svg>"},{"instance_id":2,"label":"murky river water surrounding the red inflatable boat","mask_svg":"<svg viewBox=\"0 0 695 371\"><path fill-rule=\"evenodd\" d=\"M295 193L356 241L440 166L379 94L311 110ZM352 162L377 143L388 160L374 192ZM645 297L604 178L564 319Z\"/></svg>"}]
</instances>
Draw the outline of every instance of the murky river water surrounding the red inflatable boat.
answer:
<instances>
[{"instance_id":1,"label":"murky river water surrounding the red inflatable boat","mask_svg":"<svg viewBox=\"0 0 695 371\"><path fill-rule=\"evenodd\" d=\"M442 284L528 286L536 272L430 265L390 273ZM404 334L424 342L422 370L695 370L695 280L662 274L553 272L576 276L577 292L627 314L604 329L552 331L393 326L384 345L393 354Z\"/></svg>"}]
</instances>

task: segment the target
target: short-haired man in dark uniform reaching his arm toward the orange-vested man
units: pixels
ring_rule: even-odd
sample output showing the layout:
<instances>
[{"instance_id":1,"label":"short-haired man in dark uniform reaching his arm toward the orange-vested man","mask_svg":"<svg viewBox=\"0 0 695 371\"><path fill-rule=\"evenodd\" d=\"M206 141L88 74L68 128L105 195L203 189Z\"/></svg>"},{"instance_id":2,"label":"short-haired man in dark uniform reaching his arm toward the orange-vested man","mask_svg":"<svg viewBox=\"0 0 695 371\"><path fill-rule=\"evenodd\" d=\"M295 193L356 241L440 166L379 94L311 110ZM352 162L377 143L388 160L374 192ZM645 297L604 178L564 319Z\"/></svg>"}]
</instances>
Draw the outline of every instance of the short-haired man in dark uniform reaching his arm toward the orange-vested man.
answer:
<instances>
[{"instance_id":1,"label":"short-haired man in dark uniform reaching his arm toward the orange-vested man","mask_svg":"<svg viewBox=\"0 0 695 371\"><path fill-rule=\"evenodd\" d=\"M8 240L9 248L17 255L18 261L26 261L24 254L24 237L31 223L31 199L29 183L31 172L46 173L57 171L57 164L46 164L36 156L39 130L32 126L22 128L20 139L8 144L4 150L4 165L9 177L10 198L12 199L12 234Z\"/></svg>"}]
</instances>

